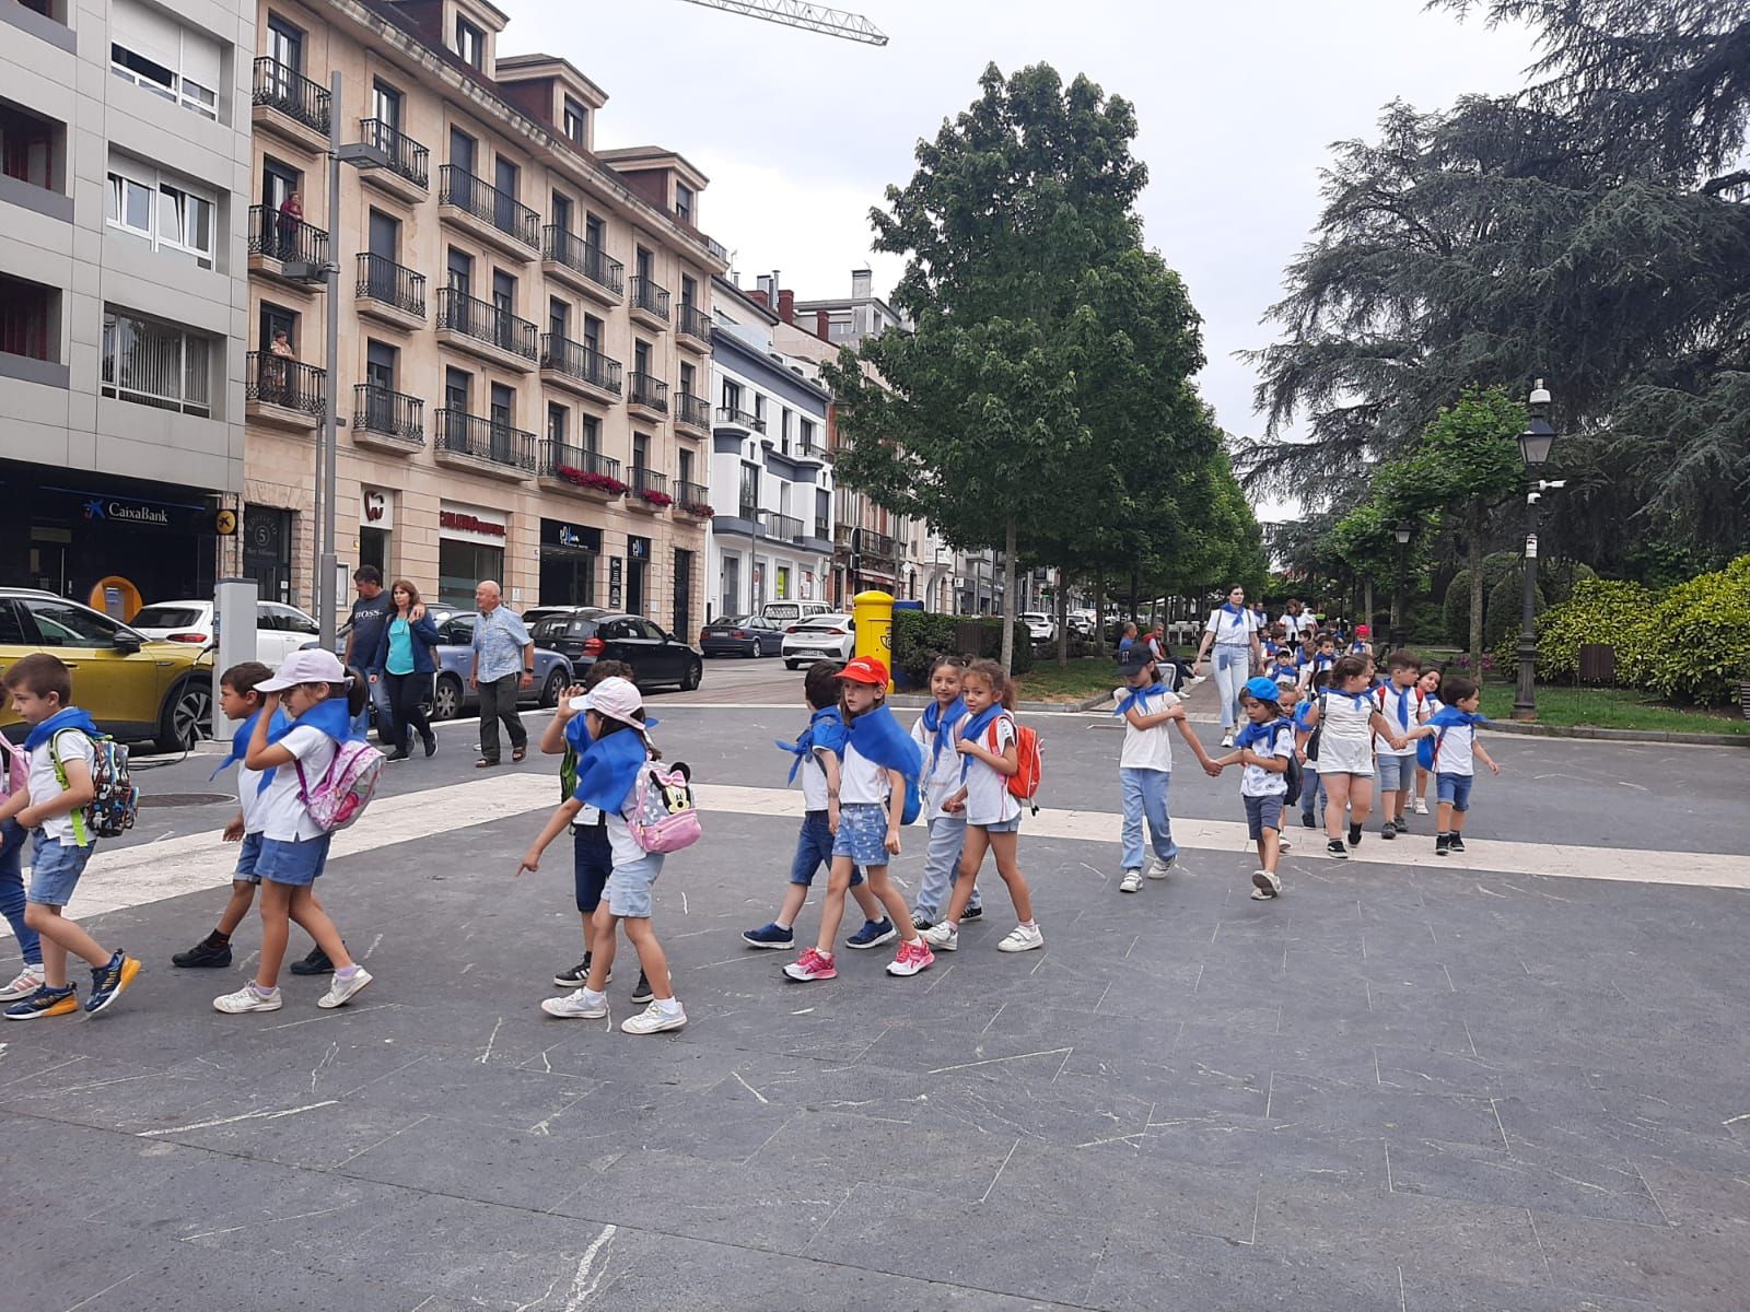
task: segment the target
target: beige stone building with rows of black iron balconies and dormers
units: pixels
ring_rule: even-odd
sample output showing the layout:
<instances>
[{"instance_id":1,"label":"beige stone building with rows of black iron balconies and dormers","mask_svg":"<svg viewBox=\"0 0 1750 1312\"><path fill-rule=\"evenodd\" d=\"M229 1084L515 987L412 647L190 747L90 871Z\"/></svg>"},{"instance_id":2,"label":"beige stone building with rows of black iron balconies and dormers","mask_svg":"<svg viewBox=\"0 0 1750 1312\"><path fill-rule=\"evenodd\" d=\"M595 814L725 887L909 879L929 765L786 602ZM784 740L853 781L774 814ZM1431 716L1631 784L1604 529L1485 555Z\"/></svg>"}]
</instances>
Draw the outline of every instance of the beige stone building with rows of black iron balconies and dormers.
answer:
<instances>
[{"instance_id":1,"label":"beige stone building with rows of black iron balconies and dormers","mask_svg":"<svg viewBox=\"0 0 1750 1312\"><path fill-rule=\"evenodd\" d=\"M486 0L256 16L245 570L264 597L310 598L334 369L348 567L450 605L492 577L516 609L621 607L688 633L724 268L698 229L705 178L660 147L597 150L607 94L565 59L500 54Z\"/></svg>"}]
</instances>

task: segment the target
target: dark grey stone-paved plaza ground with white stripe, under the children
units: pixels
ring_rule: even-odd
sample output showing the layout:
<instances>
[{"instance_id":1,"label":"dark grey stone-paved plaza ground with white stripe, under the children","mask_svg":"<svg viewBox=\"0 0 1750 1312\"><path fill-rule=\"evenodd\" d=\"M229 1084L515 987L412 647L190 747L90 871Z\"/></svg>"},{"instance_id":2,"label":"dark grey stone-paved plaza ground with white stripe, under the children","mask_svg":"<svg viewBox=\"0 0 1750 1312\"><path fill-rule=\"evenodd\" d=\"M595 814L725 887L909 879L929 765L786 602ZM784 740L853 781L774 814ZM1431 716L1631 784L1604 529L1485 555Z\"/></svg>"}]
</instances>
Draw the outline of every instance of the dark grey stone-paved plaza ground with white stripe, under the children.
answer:
<instances>
[{"instance_id":1,"label":"dark grey stone-paved plaza ground with white stripe, under the children","mask_svg":"<svg viewBox=\"0 0 1750 1312\"><path fill-rule=\"evenodd\" d=\"M1232 775L1180 745L1194 845L1122 896L1118 735L1032 717L1045 950L994 950L992 878L922 976L844 952L836 981L793 985L738 932L782 894L796 820L765 791L800 712L653 708L726 787L658 883L690 1025L648 1039L537 1009L581 955L565 845L511 878L550 763L480 777L450 724L394 766L322 882L376 981L329 1013L287 978L257 1016L210 1006L254 922L231 971L168 964L224 901L228 805L198 801L224 780L214 757L145 773L149 801L191 805L149 805L89 896L147 973L103 1016L0 1032L0 1303L1750 1305L1741 750L1494 738L1461 862L1433 859L1432 817L1395 845L1376 822L1368 861L1297 841L1260 904ZM905 841L915 887L922 829ZM623 950L614 1022L635 978Z\"/></svg>"}]
</instances>

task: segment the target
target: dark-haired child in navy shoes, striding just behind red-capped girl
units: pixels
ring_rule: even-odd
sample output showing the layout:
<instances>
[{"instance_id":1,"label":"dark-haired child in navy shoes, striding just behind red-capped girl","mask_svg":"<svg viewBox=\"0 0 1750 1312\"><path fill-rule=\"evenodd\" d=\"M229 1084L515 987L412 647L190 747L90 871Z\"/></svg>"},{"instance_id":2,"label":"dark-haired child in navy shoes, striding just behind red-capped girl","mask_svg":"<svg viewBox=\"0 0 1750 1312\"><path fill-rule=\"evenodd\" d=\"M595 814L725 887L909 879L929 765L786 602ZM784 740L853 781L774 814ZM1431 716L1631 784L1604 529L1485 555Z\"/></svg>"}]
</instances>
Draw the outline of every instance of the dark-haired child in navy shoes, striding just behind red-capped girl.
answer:
<instances>
[{"instance_id":1,"label":"dark-haired child in navy shoes, striding just behind red-capped girl","mask_svg":"<svg viewBox=\"0 0 1750 1312\"><path fill-rule=\"evenodd\" d=\"M789 889L777 920L749 929L742 943L751 948L788 948L796 941L796 917L808 901L808 887L824 862L833 864L833 836L838 833L840 771L838 756L845 747L845 719L838 714L838 665L816 661L802 684L803 698L812 712L808 728L794 743L780 742L786 752L796 754L789 778L802 773L802 833L796 834L796 855L789 862ZM850 868L850 896L863 911L863 929L845 939L847 948L875 948L900 931L882 913L858 866Z\"/></svg>"}]
</instances>

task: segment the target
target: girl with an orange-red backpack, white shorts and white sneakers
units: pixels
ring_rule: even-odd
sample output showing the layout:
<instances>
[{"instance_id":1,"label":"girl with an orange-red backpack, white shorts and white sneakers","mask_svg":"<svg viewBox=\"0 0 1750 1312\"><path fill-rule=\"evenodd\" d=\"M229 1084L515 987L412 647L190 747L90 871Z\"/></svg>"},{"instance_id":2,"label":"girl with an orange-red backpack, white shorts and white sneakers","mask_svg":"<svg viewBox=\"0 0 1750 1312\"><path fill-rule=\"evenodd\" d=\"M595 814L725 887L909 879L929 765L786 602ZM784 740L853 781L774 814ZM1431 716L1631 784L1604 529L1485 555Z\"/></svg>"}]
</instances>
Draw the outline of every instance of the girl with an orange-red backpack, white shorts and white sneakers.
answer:
<instances>
[{"instance_id":1,"label":"girl with an orange-red backpack, white shorts and white sneakers","mask_svg":"<svg viewBox=\"0 0 1750 1312\"><path fill-rule=\"evenodd\" d=\"M1144 653L1146 656L1146 653ZM1015 691L1008 673L996 661L973 661L961 679L961 700L966 701L966 722L961 724L954 747L964 757L961 787L943 803L945 810L966 810L966 850L961 852L961 873L954 880L947 918L924 936L929 946L954 952L961 946L961 917L971 903L978 882L978 868L989 848L996 854L996 873L1003 876L1008 896L1020 920L998 952L1031 952L1045 946L1045 934L1032 918L1032 890L1020 873L1015 848L1020 841L1020 801L1008 791L1008 777L1020 768L1015 747L1015 721L1008 707ZM1166 803L1166 789L1162 789ZM1155 841L1160 841L1157 833ZM1167 840L1171 841L1171 838Z\"/></svg>"}]
</instances>

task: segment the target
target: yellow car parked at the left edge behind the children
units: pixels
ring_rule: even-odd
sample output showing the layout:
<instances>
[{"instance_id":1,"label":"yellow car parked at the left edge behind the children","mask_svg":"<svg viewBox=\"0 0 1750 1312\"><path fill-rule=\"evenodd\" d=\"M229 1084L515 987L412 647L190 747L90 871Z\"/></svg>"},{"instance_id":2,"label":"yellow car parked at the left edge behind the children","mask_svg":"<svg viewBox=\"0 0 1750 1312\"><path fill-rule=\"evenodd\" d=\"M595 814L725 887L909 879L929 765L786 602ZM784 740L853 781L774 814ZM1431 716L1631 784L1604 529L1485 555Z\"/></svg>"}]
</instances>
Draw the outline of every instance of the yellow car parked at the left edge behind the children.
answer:
<instances>
[{"instance_id":1,"label":"yellow car parked at the left edge behind the children","mask_svg":"<svg viewBox=\"0 0 1750 1312\"><path fill-rule=\"evenodd\" d=\"M74 705L122 742L182 752L212 728L214 658L206 647L154 642L89 605L35 588L0 588L0 670L47 651L74 672ZM0 729L19 738L12 701Z\"/></svg>"}]
</instances>

